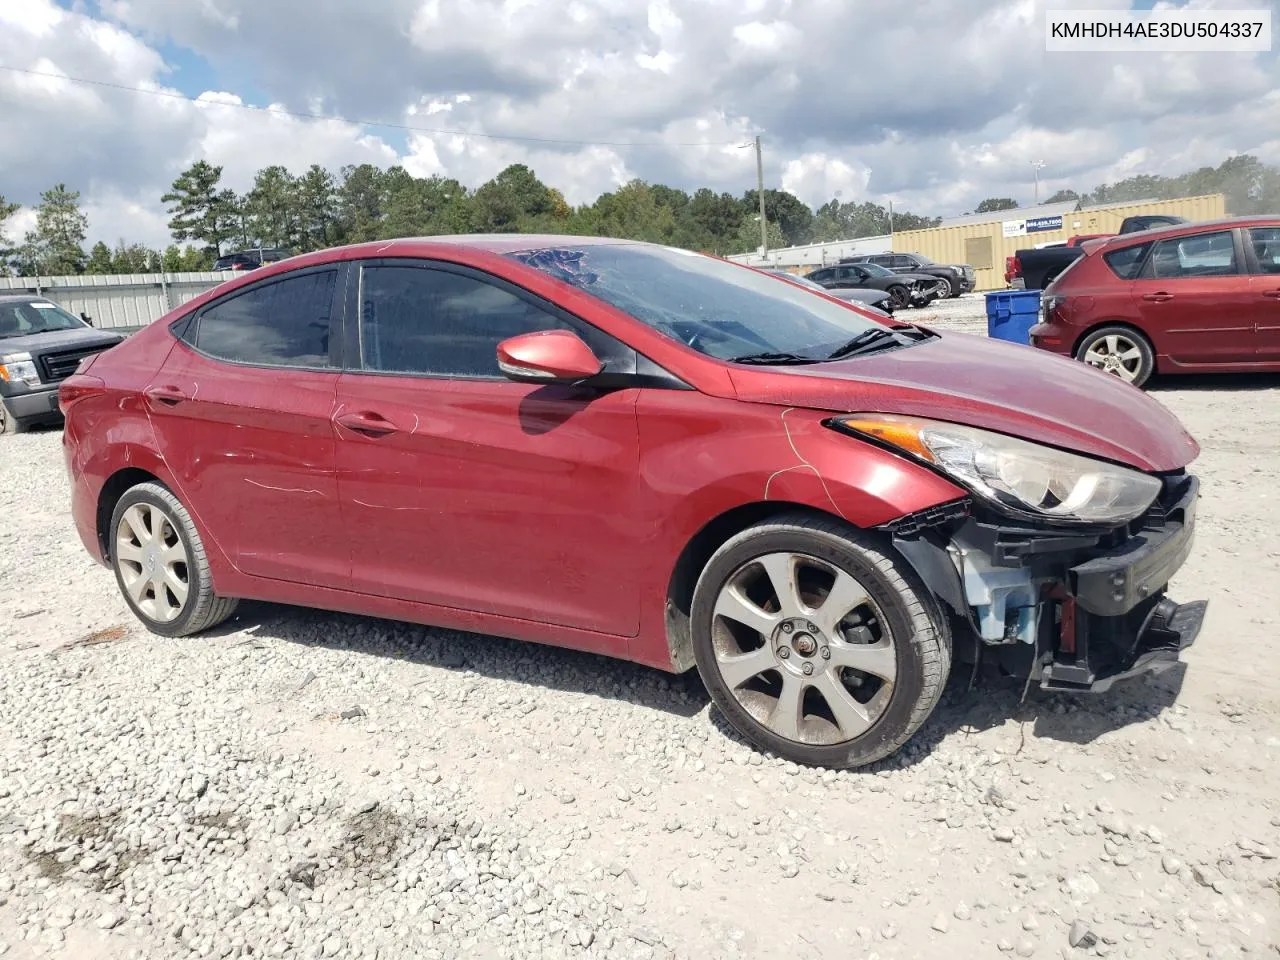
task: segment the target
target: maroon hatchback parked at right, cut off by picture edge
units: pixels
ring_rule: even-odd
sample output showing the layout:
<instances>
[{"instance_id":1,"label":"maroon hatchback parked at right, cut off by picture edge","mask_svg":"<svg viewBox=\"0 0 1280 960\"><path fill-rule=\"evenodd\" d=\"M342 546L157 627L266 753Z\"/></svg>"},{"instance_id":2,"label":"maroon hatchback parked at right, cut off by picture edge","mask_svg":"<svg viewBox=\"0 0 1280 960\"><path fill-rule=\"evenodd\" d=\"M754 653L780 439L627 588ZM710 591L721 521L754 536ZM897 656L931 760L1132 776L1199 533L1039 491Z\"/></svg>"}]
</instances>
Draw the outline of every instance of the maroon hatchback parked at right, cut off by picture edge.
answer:
<instances>
[{"instance_id":1,"label":"maroon hatchback parked at right, cut off by picture edge","mask_svg":"<svg viewBox=\"0 0 1280 960\"><path fill-rule=\"evenodd\" d=\"M1134 385L1152 374L1280 371L1280 218L1091 241L1048 285L1032 346Z\"/></svg>"}]
</instances>

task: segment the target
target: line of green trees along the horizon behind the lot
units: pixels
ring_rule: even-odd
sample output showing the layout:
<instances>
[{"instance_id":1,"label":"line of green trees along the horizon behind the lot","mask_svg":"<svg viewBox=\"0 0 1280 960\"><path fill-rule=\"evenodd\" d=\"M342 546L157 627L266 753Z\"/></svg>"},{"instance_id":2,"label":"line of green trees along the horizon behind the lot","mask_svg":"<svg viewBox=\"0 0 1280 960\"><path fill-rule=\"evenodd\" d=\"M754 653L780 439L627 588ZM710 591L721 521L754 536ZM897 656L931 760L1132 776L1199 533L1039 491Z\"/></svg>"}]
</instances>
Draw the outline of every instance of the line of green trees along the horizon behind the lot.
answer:
<instances>
[{"instance_id":1,"label":"line of green trees along the horizon behind the lot","mask_svg":"<svg viewBox=\"0 0 1280 960\"><path fill-rule=\"evenodd\" d=\"M174 242L161 250L120 239L84 250L88 218L81 195L59 183L41 195L36 225L9 241L5 223L19 210L0 196L0 270L18 275L179 273L209 270L227 253L282 247L302 253L342 243L451 233L561 233L625 237L730 255L760 243L756 191L741 196L707 187L687 192L631 180L594 202L572 206L525 164L512 164L468 189L456 179L413 177L402 166L320 165L294 174L284 166L257 172L244 193L223 186L223 168L196 161L161 197ZM1046 202L1167 200L1225 193L1231 214L1280 211L1280 169L1240 155L1179 177L1139 174L1088 193L1061 189ZM873 237L937 225L940 218L890 211L879 204L833 198L817 210L787 191L764 191L769 246ZM1011 197L988 197L978 212L1016 209ZM891 219L892 216L892 219Z\"/></svg>"}]
</instances>

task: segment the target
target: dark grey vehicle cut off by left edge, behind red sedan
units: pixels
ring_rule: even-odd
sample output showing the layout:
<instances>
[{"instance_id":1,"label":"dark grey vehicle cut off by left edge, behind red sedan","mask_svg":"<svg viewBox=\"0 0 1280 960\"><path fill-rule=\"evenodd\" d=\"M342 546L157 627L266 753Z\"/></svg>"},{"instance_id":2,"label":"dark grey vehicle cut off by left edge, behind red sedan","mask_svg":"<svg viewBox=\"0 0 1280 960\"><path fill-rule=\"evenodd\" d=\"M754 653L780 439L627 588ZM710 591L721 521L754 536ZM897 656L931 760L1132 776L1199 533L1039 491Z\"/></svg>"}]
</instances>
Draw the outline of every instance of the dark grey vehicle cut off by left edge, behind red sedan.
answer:
<instances>
[{"instance_id":1,"label":"dark grey vehicle cut off by left edge, behind red sedan","mask_svg":"<svg viewBox=\"0 0 1280 960\"><path fill-rule=\"evenodd\" d=\"M58 385L84 357L124 338L95 330L45 297L0 297L0 434L58 422Z\"/></svg>"}]
</instances>

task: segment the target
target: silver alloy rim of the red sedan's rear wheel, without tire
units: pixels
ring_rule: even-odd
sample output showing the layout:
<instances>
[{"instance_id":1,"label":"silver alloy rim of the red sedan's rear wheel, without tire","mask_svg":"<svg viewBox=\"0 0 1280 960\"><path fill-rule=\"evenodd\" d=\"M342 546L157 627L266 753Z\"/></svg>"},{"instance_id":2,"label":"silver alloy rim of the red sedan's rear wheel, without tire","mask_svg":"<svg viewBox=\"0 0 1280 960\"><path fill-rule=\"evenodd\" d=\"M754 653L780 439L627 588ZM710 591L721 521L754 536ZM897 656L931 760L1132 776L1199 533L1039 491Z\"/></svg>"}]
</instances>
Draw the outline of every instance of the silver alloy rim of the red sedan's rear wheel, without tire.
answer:
<instances>
[{"instance_id":1,"label":"silver alloy rim of the red sedan's rear wheel, without tire","mask_svg":"<svg viewBox=\"0 0 1280 960\"><path fill-rule=\"evenodd\" d=\"M151 620L168 623L191 593L187 547L174 521L151 503L134 503L115 530L115 564L129 599Z\"/></svg>"}]
</instances>

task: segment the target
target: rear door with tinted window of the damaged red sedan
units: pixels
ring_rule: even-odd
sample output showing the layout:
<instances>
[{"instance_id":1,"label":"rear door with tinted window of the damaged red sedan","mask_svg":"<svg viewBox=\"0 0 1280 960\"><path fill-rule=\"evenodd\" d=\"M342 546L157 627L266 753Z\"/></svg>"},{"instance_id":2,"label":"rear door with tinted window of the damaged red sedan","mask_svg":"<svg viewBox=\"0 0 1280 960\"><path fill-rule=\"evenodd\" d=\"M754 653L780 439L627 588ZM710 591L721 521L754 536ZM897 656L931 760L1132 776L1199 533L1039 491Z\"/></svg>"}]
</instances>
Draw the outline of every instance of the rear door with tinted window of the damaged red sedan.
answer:
<instances>
[{"instance_id":1,"label":"rear door with tinted window of the damaged red sedan","mask_svg":"<svg viewBox=\"0 0 1280 960\"><path fill-rule=\"evenodd\" d=\"M330 422L346 270L300 270L211 302L145 389L179 497L252 576L349 586Z\"/></svg>"}]
</instances>

